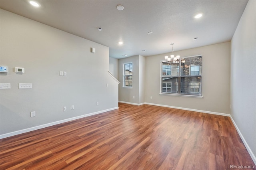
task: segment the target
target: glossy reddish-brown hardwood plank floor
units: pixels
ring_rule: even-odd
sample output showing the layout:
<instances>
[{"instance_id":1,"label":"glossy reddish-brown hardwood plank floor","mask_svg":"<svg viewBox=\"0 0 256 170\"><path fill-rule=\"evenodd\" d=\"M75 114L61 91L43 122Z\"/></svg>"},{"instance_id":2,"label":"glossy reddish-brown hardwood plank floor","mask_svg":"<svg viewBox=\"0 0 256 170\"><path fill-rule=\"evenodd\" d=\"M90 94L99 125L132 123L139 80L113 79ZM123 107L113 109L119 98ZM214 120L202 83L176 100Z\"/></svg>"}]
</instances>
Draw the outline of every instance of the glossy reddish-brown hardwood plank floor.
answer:
<instances>
[{"instance_id":1,"label":"glossy reddish-brown hardwood plank floor","mask_svg":"<svg viewBox=\"0 0 256 170\"><path fill-rule=\"evenodd\" d=\"M0 140L0 169L228 170L254 166L229 117L151 105Z\"/></svg>"}]
</instances>

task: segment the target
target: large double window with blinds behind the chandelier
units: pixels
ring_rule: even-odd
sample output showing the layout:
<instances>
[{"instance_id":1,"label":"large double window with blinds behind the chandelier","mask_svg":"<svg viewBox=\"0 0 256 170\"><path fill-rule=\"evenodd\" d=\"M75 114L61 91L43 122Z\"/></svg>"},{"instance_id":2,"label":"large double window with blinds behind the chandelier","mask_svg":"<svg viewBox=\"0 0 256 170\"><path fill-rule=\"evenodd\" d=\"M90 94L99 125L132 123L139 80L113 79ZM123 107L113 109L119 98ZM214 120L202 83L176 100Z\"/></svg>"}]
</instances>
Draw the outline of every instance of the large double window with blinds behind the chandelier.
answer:
<instances>
[{"instance_id":1,"label":"large double window with blinds behind the chandelier","mask_svg":"<svg viewBox=\"0 0 256 170\"><path fill-rule=\"evenodd\" d=\"M202 96L202 55L184 57L175 64L161 64L161 93Z\"/></svg>"}]
</instances>

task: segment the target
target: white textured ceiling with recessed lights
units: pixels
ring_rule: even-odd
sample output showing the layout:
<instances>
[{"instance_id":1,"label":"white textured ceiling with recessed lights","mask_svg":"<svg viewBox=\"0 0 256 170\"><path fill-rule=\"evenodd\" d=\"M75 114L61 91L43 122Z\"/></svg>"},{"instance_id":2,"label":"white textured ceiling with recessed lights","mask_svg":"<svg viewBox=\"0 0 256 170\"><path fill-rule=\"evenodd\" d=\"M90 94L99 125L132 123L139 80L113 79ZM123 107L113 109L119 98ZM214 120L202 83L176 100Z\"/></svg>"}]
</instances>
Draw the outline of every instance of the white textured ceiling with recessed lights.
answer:
<instances>
[{"instance_id":1,"label":"white textured ceiling with recessed lights","mask_svg":"<svg viewBox=\"0 0 256 170\"><path fill-rule=\"evenodd\" d=\"M231 40L248 0L0 0L0 8L109 47L150 56ZM117 10L117 5L124 10ZM194 15L202 12L202 18ZM98 31L97 28L102 28ZM148 32L152 34L147 34ZM198 37L198 40L193 38ZM124 44L119 45L118 42ZM146 50L146 51L142 51ZM217 52L216 52L217 53Z\"/></svg>"}]
</instances>

